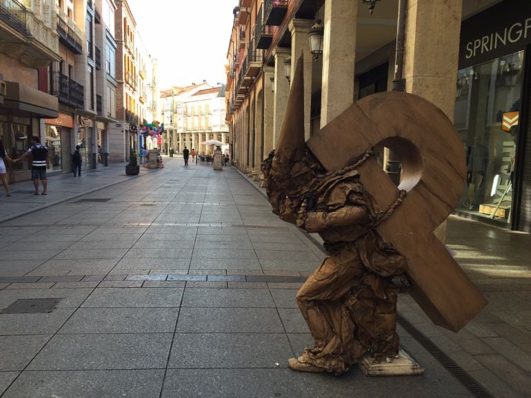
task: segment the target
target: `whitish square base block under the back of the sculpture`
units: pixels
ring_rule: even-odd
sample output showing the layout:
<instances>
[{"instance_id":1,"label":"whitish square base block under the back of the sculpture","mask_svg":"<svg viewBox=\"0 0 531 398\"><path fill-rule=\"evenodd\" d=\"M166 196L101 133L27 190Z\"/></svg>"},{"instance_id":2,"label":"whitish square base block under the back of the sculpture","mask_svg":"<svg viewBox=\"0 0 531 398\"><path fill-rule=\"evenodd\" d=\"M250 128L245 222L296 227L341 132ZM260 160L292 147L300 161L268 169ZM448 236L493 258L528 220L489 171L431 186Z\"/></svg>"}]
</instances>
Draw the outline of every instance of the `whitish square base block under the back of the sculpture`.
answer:
<instances>
[{"instance_id":1,"label":"whitish square base block under the back of the sculpture","mask_svg":"<svg viewBox=\"0 0 531 398\"><path fill-rule=\"evenodd\" d=\"M402 348L399 350L399 356L391 362L374 362L370 354L365 354L358 366L368 376L421 375L424 372L424 368Z\"/></svg>"}]
</instances>

